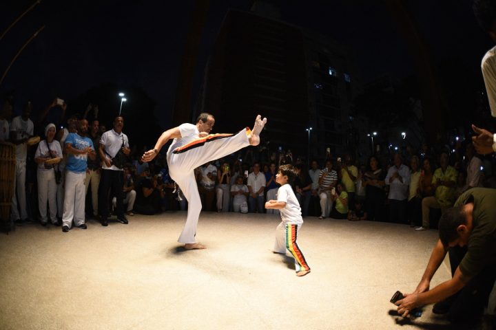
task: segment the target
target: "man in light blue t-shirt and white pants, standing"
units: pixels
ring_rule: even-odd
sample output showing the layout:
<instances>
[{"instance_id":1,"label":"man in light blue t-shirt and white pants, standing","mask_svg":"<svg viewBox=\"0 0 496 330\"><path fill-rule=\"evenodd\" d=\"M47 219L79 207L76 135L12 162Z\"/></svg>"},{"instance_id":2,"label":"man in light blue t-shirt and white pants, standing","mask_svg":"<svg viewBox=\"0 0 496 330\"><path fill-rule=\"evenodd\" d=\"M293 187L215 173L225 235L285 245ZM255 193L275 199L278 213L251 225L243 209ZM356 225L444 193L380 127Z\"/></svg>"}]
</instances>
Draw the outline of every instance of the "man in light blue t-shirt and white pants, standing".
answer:
<instances>
[{"instance_id":1,"label":"man in light blue t-shirt and white pants, standing","mask_svg":"<svg viewBox=\"0 0 496 330\"><path fill-rule=\"evenodd\" d=\"M79 120L77 133L70 133L65 139L64 149L68 155L65 164L65 194L62 216L62 231L68 232L74 225L86 229L85 224L85 178L87 157L95 159L93 142L87 137L87 120Z\"/></svg>"}]
</instances>

